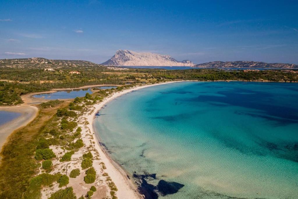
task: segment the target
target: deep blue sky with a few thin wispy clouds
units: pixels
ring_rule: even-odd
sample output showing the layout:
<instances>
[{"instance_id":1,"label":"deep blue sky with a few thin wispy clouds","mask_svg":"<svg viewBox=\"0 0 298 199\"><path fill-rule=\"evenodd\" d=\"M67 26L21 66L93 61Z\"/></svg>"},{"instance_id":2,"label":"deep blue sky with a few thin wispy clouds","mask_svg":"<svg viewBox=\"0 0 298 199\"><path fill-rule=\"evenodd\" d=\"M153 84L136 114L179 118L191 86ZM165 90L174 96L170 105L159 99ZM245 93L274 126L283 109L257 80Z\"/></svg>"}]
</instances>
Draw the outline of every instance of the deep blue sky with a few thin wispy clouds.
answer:
<instances>
[{"instance_id":1,"label":"deep blue sky with a few thin wispy clouds","mask_svg":"<svg viewBox=\"0 0 298 199\"><path fill-rule=\"evenodd\" d=\"M298 64L298 1L1 0L0 58L102 63L116 50L179 61Z\"/></svg>"}]
</instances>

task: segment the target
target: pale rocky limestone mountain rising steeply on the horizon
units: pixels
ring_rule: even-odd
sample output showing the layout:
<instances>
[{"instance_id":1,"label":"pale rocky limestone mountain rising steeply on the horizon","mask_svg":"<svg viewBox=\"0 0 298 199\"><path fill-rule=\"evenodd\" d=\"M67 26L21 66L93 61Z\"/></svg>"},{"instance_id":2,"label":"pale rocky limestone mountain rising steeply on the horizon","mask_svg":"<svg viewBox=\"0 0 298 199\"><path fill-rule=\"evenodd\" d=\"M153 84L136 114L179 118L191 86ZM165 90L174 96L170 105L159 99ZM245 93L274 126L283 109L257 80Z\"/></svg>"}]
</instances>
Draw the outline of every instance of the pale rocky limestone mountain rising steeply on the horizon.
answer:
<instances>
[{"instance_id":1,"label":"pale rocky limestone mountain rising steeply on the horizon","mask_svg":"<svg viewBox=\"0 0 298 199\"><path fill-rule=\"evenodd\" d=\"M116 54L102 65L111 66L194 66L189 60L177 61L170 55L137 53L131 50L117 50Z\"/></svg>"}]
</instances>

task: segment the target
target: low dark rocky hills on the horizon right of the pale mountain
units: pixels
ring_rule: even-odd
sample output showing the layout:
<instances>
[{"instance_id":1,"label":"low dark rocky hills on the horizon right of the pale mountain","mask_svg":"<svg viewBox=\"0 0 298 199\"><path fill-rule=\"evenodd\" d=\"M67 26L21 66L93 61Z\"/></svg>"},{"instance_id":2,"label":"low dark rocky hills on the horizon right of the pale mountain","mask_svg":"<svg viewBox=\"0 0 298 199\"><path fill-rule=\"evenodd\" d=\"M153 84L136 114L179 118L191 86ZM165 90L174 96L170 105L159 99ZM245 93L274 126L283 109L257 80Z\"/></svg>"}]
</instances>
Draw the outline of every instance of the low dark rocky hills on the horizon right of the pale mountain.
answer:
<instances>
[{"instance_id":1,"label":"low dark rocky hills on the horizon right of the pale mountain","mask_svg":"<svg viewBox=\"0 0 298 199\"><path fill-rule=\"evenodd\" d=\"M197 64L200 68L298 68L296 64L265 63L260 61L212 61Z\"/></svg>"}]
</instances>

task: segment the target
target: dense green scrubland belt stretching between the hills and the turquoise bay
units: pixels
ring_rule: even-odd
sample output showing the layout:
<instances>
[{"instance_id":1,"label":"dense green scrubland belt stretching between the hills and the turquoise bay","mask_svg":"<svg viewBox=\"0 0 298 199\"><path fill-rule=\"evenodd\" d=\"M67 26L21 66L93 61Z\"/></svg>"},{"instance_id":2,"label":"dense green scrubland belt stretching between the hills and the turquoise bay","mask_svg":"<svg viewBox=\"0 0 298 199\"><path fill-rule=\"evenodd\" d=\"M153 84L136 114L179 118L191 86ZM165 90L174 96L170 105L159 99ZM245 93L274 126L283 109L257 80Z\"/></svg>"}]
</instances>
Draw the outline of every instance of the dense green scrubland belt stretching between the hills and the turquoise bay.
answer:
<instances>
[{"instance_id":1,"label":"dense green scrubland belt stretching between the hills and the turquoise bay","mask_svg":"<svg viewBox=\"0 0 298 199\"><path fill-rule=\"evenodd\" d=\"M60 63L64 64L61 60L51 60L51 63L55 64L47 65L47 67L52 67L55 70L44 70L44 64L30 63L26 59L22 61L20 66L27 67L7 67L10 65L7 65L6 62L0 66L0 105L21 104L21 96L31 92L43 92L55 88L77 88L95 84L119 85L128 81L131 83L156 83L170 80L298 81L298 73L282 70L129 69L115 71L83 61L70 61L67 66L60 66ZM11 62L9 64L14 63L14 61ZM69 72L72 70L76 70L80 74L70 74Z\"/></svg>"}]
</instances>

